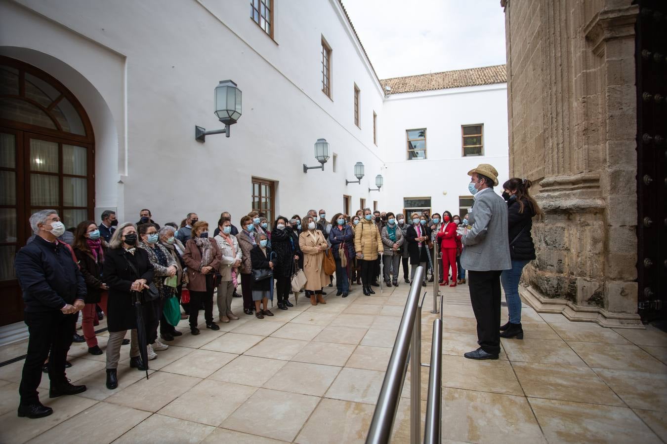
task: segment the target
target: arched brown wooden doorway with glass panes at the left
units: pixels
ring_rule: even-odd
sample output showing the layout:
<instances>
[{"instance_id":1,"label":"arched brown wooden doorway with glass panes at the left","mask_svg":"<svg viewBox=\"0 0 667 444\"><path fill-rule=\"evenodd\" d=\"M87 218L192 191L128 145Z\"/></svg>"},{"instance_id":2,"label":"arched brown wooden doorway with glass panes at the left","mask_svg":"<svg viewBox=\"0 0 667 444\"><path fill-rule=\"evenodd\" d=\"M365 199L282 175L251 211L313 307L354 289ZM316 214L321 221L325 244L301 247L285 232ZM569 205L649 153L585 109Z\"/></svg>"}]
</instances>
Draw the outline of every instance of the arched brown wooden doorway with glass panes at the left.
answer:
<instances>
[{"instance_id":1,"label":"arched brown wooden doorway with glass panes at the left","mask_svg":"<svg viewBox=\"0 0 667 444\"><path fill-rule=\"evenodd\" d=\"M14 256L36 210L67 228L92 219L95 138L76 97L27 63L0 56L0 326L23 320Z\"/></svg>"}]
</instances>

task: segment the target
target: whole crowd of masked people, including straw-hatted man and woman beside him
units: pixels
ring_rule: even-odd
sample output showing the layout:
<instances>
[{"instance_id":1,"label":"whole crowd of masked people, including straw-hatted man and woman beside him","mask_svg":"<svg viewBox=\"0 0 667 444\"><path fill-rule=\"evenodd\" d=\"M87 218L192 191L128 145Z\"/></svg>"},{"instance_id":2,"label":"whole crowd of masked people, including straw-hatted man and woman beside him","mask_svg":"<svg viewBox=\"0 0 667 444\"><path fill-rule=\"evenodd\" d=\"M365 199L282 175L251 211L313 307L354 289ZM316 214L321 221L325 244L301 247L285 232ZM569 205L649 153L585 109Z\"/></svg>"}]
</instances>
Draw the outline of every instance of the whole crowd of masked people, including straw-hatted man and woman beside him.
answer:
<instances>
[{"instance_id":1,"label":"whole crowd of masked people, including straw-hatted man and woman beside him","mask_svg":"<svg viewBox=\"0 0 667 444\"><path fill-rule=\"evenodd\" d=\"M43 368L51 381L49 397L85 391L84 385L72 385L65 377L79 311L88 353L94 355L103 353L94 330L97 310L107 316L106 386L115 389L127 330L129 364L145 370L148 363L141 356L155 359L157 352L167 349L167 343L183 334L175 328L181 319L188 319L192 335L200 333L200 310L206 328L219 330L218 322L243 316L231 309L235 296L243 299L243 314L263 319L274 316L269 300L275 299L278 310L293 307L292 293L304 292L313 306L326 304L325 288L333 287L333 276L336 296L342 298L354 286L366 296L375 294L380 280L388 288L399 286L401 266L406 284L419 266L428 270L417 283L423 286L434 276L440 276L442 286L466 284L468 270L480 349L466 357L497 359L500 335L523 337L518 281L524 266L535 258L530 228L540 210L528 194L530 181L508 180L503 200L485 192L498 185L492 166L482 164L469 174L475 204L463 218L449 211L395 214L364 208L329 218L325 210L309 210L303 217L269 221L252 211L239 218L237 227L226 211L215 225L190 212L180 224L161 227L150 210L143 209L137 223L119 224L115 212L105 211L100 224L81 222L66 236L55 210L36 212L30 218L35 235L15 260L30 334L19 416L52 413L37 393ZM438 257L434 243L440 247ZM434 274L434 266L440 273ZM305 284L293 288L293 277L300 272ZM501 274L510 310L505 326L500 326ZM140 336L145 344L140 345Z\"/></svg>"}]
</instances>

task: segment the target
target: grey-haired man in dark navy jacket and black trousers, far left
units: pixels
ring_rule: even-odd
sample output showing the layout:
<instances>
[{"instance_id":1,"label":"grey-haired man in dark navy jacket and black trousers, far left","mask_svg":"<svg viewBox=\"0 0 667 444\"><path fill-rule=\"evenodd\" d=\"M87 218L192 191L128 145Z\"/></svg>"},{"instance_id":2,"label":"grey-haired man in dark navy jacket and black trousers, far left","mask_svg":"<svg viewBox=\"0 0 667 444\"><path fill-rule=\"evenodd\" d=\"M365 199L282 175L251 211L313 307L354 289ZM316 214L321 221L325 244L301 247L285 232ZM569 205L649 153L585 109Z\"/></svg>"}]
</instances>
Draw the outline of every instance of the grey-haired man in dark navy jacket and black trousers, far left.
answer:
<instances>
[{"instance_id":1,"label":"grey-haired man in dark navy jacket and black trousers, far left","mask_svg":"<svg viewBox=\"0 0 667 444\"><path fill-rule=\"evenodd\" d=\"M75 395L85 385L72 385L65 376L65 359L75 332L77 313L84 306L86 286L71 248L58 240L65 226L55 210L30 216L35 240L21 248L14 263L23 292L29 340L19 387L19 416L40 418L53 409L39 402L41 367L49 358L49 397ZM50 354L49 354L50 351Z\"/></svg>"}]
</instances>

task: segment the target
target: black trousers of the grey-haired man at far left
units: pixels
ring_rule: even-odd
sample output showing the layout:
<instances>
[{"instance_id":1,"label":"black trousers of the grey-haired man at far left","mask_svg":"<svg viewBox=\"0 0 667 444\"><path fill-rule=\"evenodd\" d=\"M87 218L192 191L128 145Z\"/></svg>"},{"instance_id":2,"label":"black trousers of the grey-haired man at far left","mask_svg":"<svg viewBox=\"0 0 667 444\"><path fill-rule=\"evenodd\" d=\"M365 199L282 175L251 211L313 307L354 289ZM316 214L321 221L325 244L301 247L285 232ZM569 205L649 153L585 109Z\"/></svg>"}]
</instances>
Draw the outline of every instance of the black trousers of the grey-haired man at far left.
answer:
<instances>
[{"instance_id":1,"label":"black trousers of the grey-haired man at far left","mask_svg":"<svg viewBox=\"0 0 667 444\"><path fill-rule=\"evenodd\" d=\"M41 368L47 357L51 387L67 381L65 361L69 346L72 345L77 316L78 314L63 314L60 310L25 312L25 324L30 336L19 386L21 405L39 402L37 388L41 382Z\"/></svg>"}]
</instances>

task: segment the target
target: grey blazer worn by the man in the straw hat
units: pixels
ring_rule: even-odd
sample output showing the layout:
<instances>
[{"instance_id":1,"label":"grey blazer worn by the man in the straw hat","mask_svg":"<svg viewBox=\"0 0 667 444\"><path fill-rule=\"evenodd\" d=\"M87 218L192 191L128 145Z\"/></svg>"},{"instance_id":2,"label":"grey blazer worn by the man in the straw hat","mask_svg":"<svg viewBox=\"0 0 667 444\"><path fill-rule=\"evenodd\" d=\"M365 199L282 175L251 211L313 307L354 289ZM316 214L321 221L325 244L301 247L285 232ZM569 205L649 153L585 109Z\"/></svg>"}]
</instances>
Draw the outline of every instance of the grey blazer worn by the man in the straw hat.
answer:
<instances>
[{"instance_id":1,"label":"grey blazer worn by the man in the straw hat","mask_svg":"<svg viewBox=\"0 0 667 444\"><path fill-rule=\"evenodd\" d=\"M510 240L507 228L507 203L493 188L484 188L475 196L468 213L472 228L461 238L464 245L461 266L475 272L510 270Z\"/></svg>"}]
</instances>

